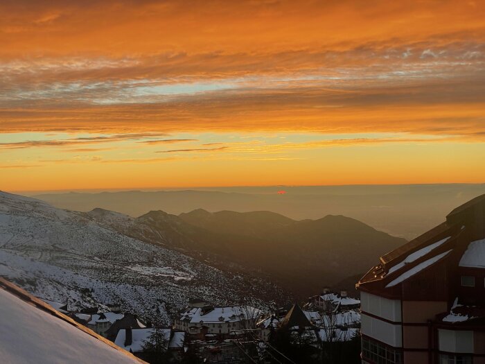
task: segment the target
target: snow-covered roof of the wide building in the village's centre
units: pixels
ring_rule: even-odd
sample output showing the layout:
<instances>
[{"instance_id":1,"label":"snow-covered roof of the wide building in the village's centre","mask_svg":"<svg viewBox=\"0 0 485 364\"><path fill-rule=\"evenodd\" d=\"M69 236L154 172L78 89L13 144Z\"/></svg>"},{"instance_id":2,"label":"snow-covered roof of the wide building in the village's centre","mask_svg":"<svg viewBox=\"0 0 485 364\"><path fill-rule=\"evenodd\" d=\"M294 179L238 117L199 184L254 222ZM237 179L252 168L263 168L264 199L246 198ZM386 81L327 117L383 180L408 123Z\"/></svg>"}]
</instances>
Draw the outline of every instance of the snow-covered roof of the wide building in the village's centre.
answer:
<instances>
[{"instance_id":1,"label":"snow-covered roof of the wide building in the village's centre","mask_svg":"<svg viewBox=\"0 0 485 364\"><path fill-rule=\"evenodd\" d=\"M180 315L180 320L188 320L191 323L215 323L237 322L246 319L256 319L261 311L251 306L214 307L213 310L204 313L204 309L193 307Z\"/></svg>"}]
</instances>

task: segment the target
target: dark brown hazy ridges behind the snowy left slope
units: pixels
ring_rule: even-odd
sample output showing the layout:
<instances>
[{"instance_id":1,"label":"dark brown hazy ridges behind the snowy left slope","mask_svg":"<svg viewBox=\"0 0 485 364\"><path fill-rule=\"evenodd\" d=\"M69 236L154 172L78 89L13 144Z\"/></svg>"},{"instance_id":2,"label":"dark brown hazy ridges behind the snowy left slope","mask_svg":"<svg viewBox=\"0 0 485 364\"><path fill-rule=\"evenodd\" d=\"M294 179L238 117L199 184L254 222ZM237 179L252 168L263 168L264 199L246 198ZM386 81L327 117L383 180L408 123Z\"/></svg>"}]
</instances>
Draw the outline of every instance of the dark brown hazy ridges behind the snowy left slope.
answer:
<instances>
[{"instance_id":1,"label":"dark brown hazy ridges behind the snowy left slope","mask_svg":"<svg viewBox=\"0 0 485 364\"><path fill-rule=\"evenodd\" d=\"M270 278L297 295L357 275L405 239L345 216L292 220L270 211L176 216L150 211L139 218L95 209L90 218L127 236L178 250L222 270Z\"/></svg>"}]
</instances>

